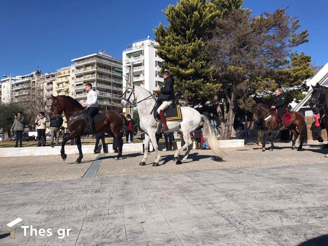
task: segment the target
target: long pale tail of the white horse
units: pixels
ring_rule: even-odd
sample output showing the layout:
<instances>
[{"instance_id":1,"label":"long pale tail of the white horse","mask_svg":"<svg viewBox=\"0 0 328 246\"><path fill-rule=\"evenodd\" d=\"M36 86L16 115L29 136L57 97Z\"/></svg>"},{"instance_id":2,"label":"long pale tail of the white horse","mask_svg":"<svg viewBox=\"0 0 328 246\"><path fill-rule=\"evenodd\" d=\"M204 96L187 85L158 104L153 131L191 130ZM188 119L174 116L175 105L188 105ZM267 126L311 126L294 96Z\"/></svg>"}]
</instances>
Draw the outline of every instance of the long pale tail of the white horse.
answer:
<instances>
[{"instance_id":1,"label":"long pale tail of the white horse","mask_svg":"<svg viewBox=\"0 0 328 246\"><path fill-rule=\"evenodd\" d=\"M207 140L211 150L214 152L215 156L221 160L225 152L220 148L215 129L205 115L201 115L201 117L204 121L204 137Z\"/></svg>"}]
</instances>

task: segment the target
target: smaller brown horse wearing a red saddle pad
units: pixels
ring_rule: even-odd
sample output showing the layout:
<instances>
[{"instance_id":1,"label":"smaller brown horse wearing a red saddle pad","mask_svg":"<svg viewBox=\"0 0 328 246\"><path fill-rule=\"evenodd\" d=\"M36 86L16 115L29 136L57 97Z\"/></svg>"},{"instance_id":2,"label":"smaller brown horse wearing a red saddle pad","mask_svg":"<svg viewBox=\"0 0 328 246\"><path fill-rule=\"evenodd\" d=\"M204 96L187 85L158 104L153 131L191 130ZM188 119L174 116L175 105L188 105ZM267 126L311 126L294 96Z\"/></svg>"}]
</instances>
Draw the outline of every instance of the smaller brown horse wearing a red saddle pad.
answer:
<instances>
[{"instance_id":1,"label":"smaller brown horse wearing a red saddle pad","mask_svg":"<svg viewBox=\"0 0 328 246\"><path fill-rule=\"evenodd\" d=\"M265 151L265 138L267 135L270 137L271 142L271 149L270 151L273 151L273 148L275 147L273 145L273 136L271 134L271 131L277 130L279 123L275 119L275 110L270 109L267 105L258 103L253 106L252 108L252 114L253 114L253 120L256 120L258 118L262 119L262 124L266 130L264 136L263 136L263 146L262 151ZM299 135L299 146L297 150L300 150L302 148L303 143L307 143L307 127L306 122L304 119L304 116L301 113L291 111L289 112L292 115L292 121L285 122L285 127L288 128L292 133L294 133L295 137L292 141L292 149L294 150L296 139ZM296 129L297 128L297 129ZM298 133L298 131L299 133Z\"/></svg>"}]
</instances>

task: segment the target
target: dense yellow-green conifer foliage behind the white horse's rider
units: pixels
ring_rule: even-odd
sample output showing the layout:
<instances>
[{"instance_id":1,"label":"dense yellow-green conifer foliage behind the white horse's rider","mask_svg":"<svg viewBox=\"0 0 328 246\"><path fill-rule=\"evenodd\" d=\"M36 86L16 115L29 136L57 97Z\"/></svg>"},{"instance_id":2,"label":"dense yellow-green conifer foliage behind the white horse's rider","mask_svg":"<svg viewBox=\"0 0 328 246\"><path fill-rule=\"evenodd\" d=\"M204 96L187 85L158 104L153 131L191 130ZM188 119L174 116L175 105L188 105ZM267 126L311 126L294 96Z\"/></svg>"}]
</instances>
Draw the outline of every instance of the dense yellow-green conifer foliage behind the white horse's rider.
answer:
<instances>
[{"instance_id":1,"label":"dense yellow-green conifer foliage behind the white horse's rider","mask_svg":"<svg viewBox=\"0 0 328 246\"><path fill-rule=\"evenodd\" d=\"M210 83L214 69L204 39L211 37L219 18L239 8L242 2L181 0L175 7L169 5L163 10L170 24L165 27L160 23L154 30L159 43L157 54L164 60L163 70L177 76L174 90L185 105L205 102L209 91L219 89L220 84Z\"/></svg>"}]
</instances>

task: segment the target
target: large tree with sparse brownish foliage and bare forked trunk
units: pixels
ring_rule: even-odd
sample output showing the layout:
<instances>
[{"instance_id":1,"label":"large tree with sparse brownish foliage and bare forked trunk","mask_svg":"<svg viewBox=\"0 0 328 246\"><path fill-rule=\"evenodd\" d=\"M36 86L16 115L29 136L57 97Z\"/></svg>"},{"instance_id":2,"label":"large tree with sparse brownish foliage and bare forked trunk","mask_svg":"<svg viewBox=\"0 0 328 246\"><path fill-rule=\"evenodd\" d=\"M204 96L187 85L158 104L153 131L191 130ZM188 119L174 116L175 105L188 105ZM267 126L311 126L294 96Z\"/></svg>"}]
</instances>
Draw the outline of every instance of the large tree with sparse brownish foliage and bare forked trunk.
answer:
<instances>
[{"instance_id":1,"label":"large tree with sparse brownish foliage and bare forked trunk","mask_svg":"<svg viewBox=\"0 0 328 246\"><path fill-rule=\"evenodd\" d=\"M288 94L288 102L299 100L307 90L303 81L313 76L310 56L291 55L292 47L308 42L307 30L297 32L298 19L285 9L250 15L250 10L241 8L230 11L217 20L213 36L207 39L215 69L212 84L221 84L211 103L220 117L223 138L230 138L238 108L249 109L258 98L269 100L276 88Z\"/></svg>"}]
</instances>

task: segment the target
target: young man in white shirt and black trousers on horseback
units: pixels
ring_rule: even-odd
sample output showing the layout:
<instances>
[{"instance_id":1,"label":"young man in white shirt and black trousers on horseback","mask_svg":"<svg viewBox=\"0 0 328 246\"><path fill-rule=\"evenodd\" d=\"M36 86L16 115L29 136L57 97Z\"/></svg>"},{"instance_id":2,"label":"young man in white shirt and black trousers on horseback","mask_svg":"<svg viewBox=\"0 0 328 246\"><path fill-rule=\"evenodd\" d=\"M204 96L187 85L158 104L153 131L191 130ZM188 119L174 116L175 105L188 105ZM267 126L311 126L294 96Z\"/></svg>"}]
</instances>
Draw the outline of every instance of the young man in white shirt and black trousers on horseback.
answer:
<instances>
[{"instance_id":1,"label":"young man in white shirt and black trousers on horseback","mask_svg":"<svg viewBox=\"0 0 328 246\"><path fill-rule=\"evenodd\" d=\"M94 126L94 120L93 120L93 116L96 115L97 113L99 113L99 108L98 108L98 95L97 92L92 90L92 84L91 83L87 83L85 85L85 89L88 92L88 96L87 96L87 102L85 104L82 105L82 107L87 107L87 118L88 118L88 122L89 122L89 129L87 128L84 131L84 134L93 134L94 130L95 130L95 126Z\"/></svg>"}]
</instances>

